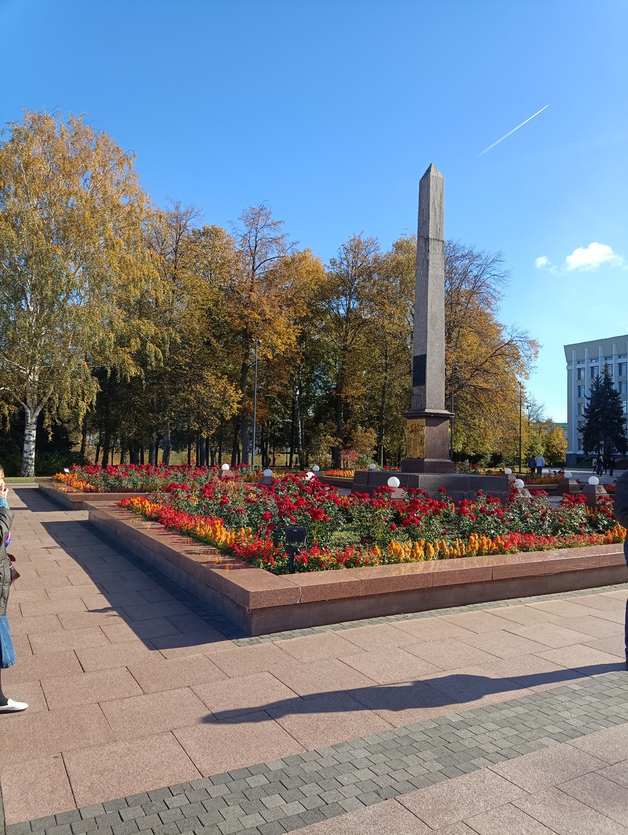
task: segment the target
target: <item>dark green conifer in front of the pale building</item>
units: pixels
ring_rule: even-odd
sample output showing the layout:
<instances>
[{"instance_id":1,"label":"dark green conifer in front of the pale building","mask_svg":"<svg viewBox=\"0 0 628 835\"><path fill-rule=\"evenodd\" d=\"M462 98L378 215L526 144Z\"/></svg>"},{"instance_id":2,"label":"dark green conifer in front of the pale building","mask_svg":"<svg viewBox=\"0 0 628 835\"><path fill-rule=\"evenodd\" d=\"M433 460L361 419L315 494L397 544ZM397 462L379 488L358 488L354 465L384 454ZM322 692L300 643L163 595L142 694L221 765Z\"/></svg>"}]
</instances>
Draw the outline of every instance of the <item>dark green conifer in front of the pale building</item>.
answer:
<instances>
[{"instance_id":1,"label":"dark green conifer in front of the pale building","mask_svg":"<svg viewBox=\"0 0 628 835\"><path fill-rule=\"evenodd\" d=\"M606 455L619 452L625 455L628 440L625 437L625 416L619 392L613 387L608 366L604 374L598 374L591 383L590 397L585 407L585 427L582 430L582 448L585 453L602 451Z\"/></svg>"}]
</instances>

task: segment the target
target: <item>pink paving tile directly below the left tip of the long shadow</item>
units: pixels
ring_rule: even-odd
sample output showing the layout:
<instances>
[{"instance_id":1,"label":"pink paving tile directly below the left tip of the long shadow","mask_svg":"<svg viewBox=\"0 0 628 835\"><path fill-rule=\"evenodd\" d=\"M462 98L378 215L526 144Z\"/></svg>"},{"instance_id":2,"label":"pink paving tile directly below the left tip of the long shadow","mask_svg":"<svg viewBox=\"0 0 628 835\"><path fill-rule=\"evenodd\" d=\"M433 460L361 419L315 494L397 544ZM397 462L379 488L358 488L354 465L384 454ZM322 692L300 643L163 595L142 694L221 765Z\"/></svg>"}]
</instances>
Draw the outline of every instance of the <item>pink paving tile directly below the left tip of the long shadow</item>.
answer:
<instances>
[{"instance_id":1,"label":"pink paving tile directly below the left tip of the long shadow","mask_svg":"<svg viewBox=\"0 0 628 835\"><path fill-rule=\"evenodd\" d=\"M172 732L204 777L305 750L263 711L248 713L238 721L227 719Z\"/></svg>"}]
</instances>

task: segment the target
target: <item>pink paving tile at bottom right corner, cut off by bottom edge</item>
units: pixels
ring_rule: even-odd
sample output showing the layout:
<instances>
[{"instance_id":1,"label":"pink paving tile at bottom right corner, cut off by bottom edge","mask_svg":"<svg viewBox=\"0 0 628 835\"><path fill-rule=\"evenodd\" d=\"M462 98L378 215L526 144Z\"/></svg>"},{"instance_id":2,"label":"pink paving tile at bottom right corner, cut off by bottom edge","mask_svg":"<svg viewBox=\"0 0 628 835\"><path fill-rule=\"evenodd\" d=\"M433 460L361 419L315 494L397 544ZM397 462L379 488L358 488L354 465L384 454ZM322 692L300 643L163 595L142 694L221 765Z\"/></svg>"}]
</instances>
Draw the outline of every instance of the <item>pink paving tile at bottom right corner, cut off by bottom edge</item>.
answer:
<instances>
[{"instance_id":1,"label":"pink paving tile at bottom right corner, cut off by bottom edge","mask_svg":"<svg viewBox=\"0 0 628 835\"><path fill-rule=\"evenodd\" d=\"M627 831L619 823L557 788L523 797L514 801L514 806L561 835L626 835Z\"/></svg>"}]
</instances>

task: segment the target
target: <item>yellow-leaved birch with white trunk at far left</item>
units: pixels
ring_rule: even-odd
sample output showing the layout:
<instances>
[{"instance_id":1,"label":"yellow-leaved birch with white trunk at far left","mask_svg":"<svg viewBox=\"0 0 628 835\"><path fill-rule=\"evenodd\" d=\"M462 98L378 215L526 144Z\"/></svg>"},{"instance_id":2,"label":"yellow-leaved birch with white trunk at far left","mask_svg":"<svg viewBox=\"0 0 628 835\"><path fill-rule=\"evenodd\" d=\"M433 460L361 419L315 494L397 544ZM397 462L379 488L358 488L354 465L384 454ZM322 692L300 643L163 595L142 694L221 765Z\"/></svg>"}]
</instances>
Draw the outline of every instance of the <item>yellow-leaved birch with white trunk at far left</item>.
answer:
<instances>
[{"instance_id":1,"label":"yellow-leaved birch with white trunk at far left","mask_svg":"<svg viewBox=\"0 0 628 835\"><path fill-rule=\"evenodd\" d=\"M98 390L89 357L104 365L117 352L119 293L146 280L145 199L134 156L82 116L26 111L3 136L0 387L23 409L26 476L43 407L84 413Z\"/></svg>"}]
</instances>

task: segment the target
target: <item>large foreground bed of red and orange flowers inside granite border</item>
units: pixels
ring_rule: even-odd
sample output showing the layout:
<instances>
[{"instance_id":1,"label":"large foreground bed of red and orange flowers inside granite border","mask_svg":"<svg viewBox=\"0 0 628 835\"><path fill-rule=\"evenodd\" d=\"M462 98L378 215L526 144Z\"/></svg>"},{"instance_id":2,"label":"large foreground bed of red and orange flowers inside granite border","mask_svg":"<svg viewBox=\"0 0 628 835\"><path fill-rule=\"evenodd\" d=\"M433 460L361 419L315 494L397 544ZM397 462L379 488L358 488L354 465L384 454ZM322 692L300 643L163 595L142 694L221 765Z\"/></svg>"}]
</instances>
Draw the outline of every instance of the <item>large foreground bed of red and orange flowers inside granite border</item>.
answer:
<instances>
[{"instance_id":1,"label":"large foreground bed of red and orange flowers inside granite border","mask_svg":"<svg viewBox=\"0 0 628 835\"><path fill-rule=\"evenodd\" d=\"M481 493L474 502L453 504L444 493L437 500L408 492L408 501L393 501L390 488L372 497L340 497L316 478L284 476L263 490L210 478L170 483L154 498L119 504L275 574L288 570L285 526L307 532L297 571L574 548L625 537L610 500L591 511L584 497L565 496L556 507L542 491L531 499L513 493L505 506Z\"/></svg>"}]
</instances>

